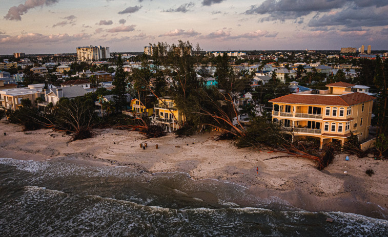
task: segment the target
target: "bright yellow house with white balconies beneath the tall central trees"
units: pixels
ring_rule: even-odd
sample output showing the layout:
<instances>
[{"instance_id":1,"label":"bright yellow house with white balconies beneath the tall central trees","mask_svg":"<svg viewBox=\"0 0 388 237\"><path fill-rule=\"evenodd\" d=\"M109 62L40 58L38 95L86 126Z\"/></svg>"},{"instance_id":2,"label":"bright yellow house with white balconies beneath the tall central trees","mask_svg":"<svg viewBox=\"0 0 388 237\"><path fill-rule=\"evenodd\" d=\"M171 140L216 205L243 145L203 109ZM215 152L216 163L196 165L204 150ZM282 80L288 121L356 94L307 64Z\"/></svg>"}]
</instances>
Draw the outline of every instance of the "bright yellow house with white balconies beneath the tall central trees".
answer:
<instances>
[{"instance_id":1,"label":"bright yellow house with white balconies beneath the tall central trees","mask_svg":"<svg viewBox=\"0 0 388 237\"><path fill-rule=\"evenodd\" d=\"M174 131L183 125L185 116L178 110L172 97L165 96L155 104L154 121L164 123L169 131Z\"/></svg>"}]
</instances>

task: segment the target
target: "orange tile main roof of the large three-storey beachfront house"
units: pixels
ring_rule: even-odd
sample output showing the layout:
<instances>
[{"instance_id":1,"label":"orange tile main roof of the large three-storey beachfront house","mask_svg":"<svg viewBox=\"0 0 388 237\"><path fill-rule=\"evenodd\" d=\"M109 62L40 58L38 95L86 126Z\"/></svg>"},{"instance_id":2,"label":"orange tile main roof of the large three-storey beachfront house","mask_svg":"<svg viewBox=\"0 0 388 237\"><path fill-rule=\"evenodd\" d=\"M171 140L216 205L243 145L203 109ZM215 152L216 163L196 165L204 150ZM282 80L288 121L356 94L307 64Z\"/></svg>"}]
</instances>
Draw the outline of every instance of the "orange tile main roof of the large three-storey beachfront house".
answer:
<instances>
[{"instance_id":1,"label":"orange tile main roof of the large three-storey beachfront house","mask_svg":"<svg viewBox=\"0 0 388 237\"><path fill-rule=\"evenodd\" d=\"M366 95L365 93L359 93L359 92L337 95L337 96L296 93L296 94L280 96L278 98L269 100L269 102L290 103L290 104L350 106L350 105L371 101L374 99L376 99L376 97Z\"/></svg>"}]
</instances>

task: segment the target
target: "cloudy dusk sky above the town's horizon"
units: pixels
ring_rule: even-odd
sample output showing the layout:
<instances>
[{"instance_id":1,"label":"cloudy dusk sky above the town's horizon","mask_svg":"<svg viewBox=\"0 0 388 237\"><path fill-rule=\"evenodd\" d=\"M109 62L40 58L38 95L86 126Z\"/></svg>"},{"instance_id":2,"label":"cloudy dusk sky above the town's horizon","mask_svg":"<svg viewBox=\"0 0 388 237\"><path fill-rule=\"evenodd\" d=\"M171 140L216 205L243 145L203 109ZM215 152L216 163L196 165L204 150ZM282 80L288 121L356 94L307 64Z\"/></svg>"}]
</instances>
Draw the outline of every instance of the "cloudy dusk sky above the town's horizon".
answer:
<instances>
[{"instance_id":1,"label":"cloudy dusk sky above the town's horizon","mask_svg":"<svg viewBox=\"0 0 388 237\"><path fill-rule=\"evenodd\" d=\"M203 50L388 51L388 0L2 0L0 55L140 52L150 43Z\"/></svg>"}]
</instances>

